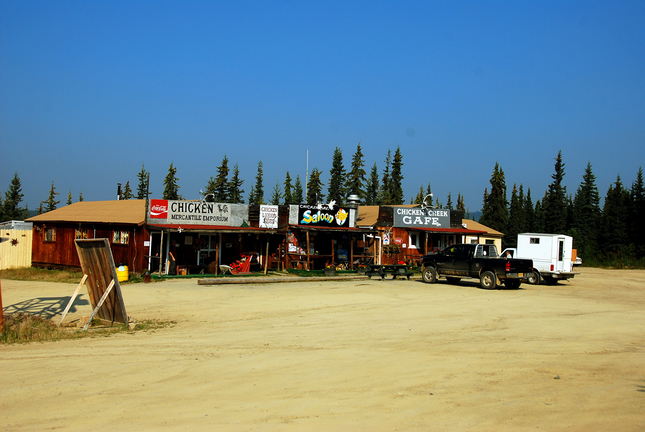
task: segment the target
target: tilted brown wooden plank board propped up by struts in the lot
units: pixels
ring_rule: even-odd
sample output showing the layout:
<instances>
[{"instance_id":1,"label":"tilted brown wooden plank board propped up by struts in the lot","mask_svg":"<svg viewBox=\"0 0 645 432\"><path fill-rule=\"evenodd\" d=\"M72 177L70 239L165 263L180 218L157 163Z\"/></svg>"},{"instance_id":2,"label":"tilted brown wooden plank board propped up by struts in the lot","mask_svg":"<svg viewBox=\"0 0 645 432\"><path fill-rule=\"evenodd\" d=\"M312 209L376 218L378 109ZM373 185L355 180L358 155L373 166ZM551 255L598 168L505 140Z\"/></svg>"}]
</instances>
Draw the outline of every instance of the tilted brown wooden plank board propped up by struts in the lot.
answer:
<instances>
[{"instance_id":1,"label":"tilted brown wooden plank board propped up by struts in the lot","mask_svg":"<svg viewBox=\"0 0 645 432\"><path fill-rule=\"evenodd\" d=\"M105 324L128 324L110 242L108 239L79 239L75 242L81 268L87 275L87 293L96 316Z\"/></svg>"}]
</instances>

